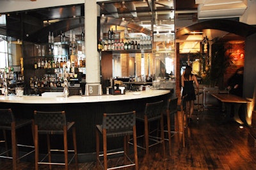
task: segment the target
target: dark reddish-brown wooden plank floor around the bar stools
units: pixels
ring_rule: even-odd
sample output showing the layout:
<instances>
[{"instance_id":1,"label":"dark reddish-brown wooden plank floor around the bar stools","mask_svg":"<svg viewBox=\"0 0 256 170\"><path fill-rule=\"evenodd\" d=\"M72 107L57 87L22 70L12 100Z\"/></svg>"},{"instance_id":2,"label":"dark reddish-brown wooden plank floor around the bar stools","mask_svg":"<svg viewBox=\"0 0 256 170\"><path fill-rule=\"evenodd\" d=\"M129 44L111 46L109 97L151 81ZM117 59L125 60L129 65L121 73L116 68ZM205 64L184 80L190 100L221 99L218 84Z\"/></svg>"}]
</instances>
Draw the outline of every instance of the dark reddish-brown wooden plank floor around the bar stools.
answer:
<instances>
[{"instance_id":1,"label":"dark reddish-brown wooden plank floor around the bar stools","mask_svg":"<svg viewBox=\"0 0 256 170\"><path fill-rule=\"evenodd\" d=\"M139 152L140 169L256 169L256 148L248 145L248 127L235 122L220 123L221 113L204 111L189 124L186 148L173 138L172 156L163 158L161 148L150 150L150 162ZM166 153L168 147L166 143ZM117 162L118 159L114 160ZM11 169L10 160L0 159L0 169ZM34 164L20 162L19 169L34 169ZM48 167L40 167L48 169ZM52 169L61 169L53 166ZM74 165L70 166L74 169ZM95 169L95 162L79 163L79 169Z\"/></svg>"}]
</instances>

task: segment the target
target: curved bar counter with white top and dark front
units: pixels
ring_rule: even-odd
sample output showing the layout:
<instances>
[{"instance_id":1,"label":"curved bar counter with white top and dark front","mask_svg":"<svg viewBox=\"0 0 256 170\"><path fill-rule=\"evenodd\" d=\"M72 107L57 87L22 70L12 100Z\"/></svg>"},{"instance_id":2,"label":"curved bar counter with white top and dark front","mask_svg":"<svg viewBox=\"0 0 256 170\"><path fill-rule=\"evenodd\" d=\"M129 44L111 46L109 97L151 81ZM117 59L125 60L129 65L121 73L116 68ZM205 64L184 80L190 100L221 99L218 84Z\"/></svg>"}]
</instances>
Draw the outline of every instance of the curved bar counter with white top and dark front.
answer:
<instances>
[{"instance_id":1,"label":"curved bar counter with white top and dark front","mask_svg":"<svg viewBox=\"0 0 256 170\"><path fill-rule=\"evenodd\" d=\"M100 96L71 96L64 97L39 97L39 96L0 96L0 109L11 108L17 118L33 118L33 111L65 111L67 121L76 122L77 151L79 160L85 162L92 160L95 153L95 125L102 122L104 112L128 112L143 111L147 102L167 101L172 94L170 90L147 90L140 92L127 92L125 95L100 95ZM71 136L70 136L71 137ZM40 148L45 137L40 139ZM22 140L33 141L28 137ZM68 139L69 140L69 139ZM56 146L62 139L54 139ZM116 146L122 146L122 139L113 140L111 150ZM53 145L53 144L52 144ZM90 155L90 157L88 157Z\"/></svg>"}]
</instances>

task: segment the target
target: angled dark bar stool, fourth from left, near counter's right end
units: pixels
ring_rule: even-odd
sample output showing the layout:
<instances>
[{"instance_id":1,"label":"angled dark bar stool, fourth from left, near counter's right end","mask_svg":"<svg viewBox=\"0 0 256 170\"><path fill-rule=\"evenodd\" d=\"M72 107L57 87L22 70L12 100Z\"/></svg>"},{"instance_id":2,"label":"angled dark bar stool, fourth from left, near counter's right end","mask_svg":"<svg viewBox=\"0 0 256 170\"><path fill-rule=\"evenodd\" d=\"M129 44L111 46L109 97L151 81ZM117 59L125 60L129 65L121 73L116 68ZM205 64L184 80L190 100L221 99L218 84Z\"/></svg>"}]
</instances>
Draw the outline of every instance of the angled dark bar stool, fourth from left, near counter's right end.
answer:
<instances>
[{"instance_id":1,"label":"angled dark bar stool, fourth from left, near counter's right end","mask_svg":"<svg viewBox=\"0 0 256 170\"><path fill-rule=\"evenodd\" d=\"M149 155L149 148L156 144L162 144L163 155L165 157L165 146L164 146L164 127L163 127L163 100L159 102L147 103L145 105L144 112L136 114L136 120L144 123L144 134L137 136L137 139L144 137L143 145L137 145L138 148L146 150L146 155ZM158 137L158 126L153 130L150 130L150 123L153 121L160 121L161 125L161 137ZM155 132L156 135L153 133ZM150 143L151 142L151 143Z\"/></svg>"}]
</instances>

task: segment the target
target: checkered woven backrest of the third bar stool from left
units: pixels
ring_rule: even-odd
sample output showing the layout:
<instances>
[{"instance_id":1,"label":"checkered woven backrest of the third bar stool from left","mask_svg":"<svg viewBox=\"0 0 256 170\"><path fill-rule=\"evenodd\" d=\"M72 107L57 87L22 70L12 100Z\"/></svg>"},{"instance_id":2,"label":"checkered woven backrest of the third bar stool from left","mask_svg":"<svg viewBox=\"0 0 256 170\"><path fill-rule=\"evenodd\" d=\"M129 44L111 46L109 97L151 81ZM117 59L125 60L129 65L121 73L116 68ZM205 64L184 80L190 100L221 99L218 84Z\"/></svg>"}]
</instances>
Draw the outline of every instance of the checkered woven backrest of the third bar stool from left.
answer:
<instances>
[{"instance_id":1,"label":"checkered woven backrest of the third bar stool from left","mask_svg":"<svg viewBox=\"0 0 256 170\"><path fill-rule=\"evenodd\" d=\"M116 133L129 131L132 132L136 124L136 112L121 112L121 113L104 113L102 120L102 128L107 130L107 133Z\"/></svg>"}]
</instances>

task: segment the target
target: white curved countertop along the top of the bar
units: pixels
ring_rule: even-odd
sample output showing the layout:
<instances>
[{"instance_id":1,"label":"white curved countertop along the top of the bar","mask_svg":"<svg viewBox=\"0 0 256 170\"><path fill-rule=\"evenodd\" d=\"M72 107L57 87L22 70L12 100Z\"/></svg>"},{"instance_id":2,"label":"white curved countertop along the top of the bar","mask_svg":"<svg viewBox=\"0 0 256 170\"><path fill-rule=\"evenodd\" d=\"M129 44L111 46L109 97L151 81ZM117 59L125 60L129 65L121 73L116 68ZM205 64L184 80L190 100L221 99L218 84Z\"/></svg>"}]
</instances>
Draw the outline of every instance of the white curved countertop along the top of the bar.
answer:
<instances>
[{"instance_id":1,"label":"white curved countertop along the top of the bar","mask_svg":"<svg viewBox=\"0 0 256 170\"><path fill-rule=\"evenodd\" d=\"M88 102L110 102L118 100L132 100L138 98L156 97L166 95L170 90L147 90L126 92L125 95L101 95L101 96L71 96L71 97L40 97L23 96L17 97L0 95L0 102L19 103L19 104L67 104L67 103L88 103Z\"/></svg>"}]
</instances>

